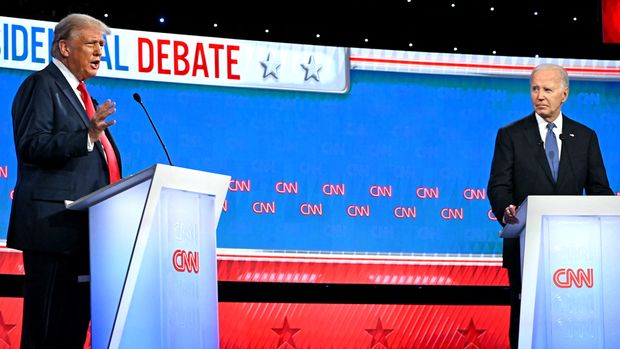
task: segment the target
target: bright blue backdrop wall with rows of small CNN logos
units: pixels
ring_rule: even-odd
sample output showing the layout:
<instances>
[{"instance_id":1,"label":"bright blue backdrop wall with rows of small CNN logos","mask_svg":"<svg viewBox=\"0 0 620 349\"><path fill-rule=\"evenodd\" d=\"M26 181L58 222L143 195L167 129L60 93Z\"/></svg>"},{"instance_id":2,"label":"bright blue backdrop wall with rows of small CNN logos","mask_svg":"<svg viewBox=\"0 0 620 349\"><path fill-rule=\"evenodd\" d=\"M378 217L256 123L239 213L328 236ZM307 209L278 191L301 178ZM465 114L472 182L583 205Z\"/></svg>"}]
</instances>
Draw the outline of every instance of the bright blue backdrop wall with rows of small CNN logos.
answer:
<instances>
[{"instance_id":1,"label":"bright blue backdrop wall with rows of small CNN logos","mask_svg":"<svg viewBox=\"0 0 620 349\"><path fill-rule=\"evenodd\" d=\"M0 69L0 239L16 179L11 103L28 71ZM167 163L231 175L218 247L501 253L486 183L497 129L531 112L527 78L351 71L347 94L97 77L117 102L125 175ZM564 113L599 135L620 188L620 83L571 82Z\"/></svg>"}]
</instances>

